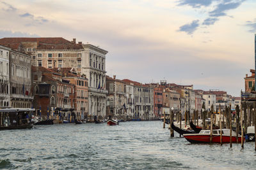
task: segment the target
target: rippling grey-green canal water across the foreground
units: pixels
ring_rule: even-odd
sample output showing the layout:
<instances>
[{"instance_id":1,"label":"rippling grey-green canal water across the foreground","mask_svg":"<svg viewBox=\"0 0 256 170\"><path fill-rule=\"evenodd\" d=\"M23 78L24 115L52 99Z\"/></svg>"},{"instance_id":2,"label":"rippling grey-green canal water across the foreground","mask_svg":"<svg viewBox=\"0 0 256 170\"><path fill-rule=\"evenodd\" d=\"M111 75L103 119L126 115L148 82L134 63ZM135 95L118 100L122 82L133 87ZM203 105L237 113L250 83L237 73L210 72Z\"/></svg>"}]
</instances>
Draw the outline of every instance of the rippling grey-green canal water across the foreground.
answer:
<instances>
[{"instance_id":1,"label":"rippling grey-green canal water across the foreground","mask_svg":"<svg viewBox=\"0 0 256 170\"><path fill-rule=\"evenodd\" d=\"M160 121L0 131L0 169L255 169L254 143L191 145Z\"/></svg>"}]
</instances>

